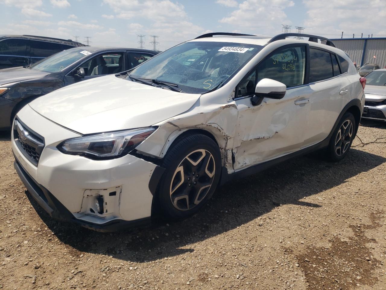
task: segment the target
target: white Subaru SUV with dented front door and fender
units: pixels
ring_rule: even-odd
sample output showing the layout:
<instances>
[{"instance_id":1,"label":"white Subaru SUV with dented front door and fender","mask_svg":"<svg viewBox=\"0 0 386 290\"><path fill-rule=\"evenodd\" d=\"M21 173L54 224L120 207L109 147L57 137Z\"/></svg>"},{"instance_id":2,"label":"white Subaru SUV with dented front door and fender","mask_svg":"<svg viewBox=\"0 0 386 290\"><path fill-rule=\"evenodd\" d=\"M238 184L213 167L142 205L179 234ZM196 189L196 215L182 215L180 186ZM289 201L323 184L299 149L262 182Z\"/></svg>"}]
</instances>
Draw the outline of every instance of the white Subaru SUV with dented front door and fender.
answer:
<instances>
[{"instance_id":1,"label":"white Subaru SUV with dented front door and fender","mask_svg":"<svg viewBox=\"0 0 386 290\"><path fill-rule=\"evenodd\" d=\"M39 97L14 120L15 168L53 218L116 230L156 208L187 217L231 178L312 150L338 161L366 79L329 39L296 35L205 34Z\"/></svg>"}]
</instances>

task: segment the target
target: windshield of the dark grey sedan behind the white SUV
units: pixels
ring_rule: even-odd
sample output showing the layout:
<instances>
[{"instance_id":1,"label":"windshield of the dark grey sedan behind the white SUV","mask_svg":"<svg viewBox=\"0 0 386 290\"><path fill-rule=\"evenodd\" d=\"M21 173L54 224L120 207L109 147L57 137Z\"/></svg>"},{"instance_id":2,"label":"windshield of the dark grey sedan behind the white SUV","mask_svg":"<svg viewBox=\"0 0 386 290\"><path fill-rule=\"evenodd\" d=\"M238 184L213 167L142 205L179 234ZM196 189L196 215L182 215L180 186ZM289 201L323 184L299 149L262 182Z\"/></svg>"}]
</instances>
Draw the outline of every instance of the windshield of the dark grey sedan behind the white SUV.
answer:
<instances>
[{"instance_id":1,"label":"windshield of the dark grey sedan behind the white SUV","mask_svg":"<svg viewBox=\"0 0 386 290\"><path fill-rule=\"evenodd\" d=\"M84 49L71 48L44 58L44 60L38 61L28 68L41 72L60 72L63 68L68 67L88 54L90 53Z\"/></svg>"}]
</instances>

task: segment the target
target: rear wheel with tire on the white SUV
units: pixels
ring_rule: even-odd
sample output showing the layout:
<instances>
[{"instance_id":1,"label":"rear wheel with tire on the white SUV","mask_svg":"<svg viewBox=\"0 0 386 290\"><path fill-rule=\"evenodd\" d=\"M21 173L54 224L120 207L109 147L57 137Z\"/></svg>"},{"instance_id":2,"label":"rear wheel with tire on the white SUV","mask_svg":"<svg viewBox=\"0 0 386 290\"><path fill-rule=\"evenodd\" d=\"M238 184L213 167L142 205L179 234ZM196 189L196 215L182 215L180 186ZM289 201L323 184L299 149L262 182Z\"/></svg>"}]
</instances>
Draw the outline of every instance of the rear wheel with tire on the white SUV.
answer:
<instances>
[{"instance_id":1,"label":"rear wheel with tire on the white SUV","mask_svg":"<svg viewBox=\"0 0 386 290\"><path fill-rule=\"evenodd\" d=\"M342 160L351 147L351 143L355 137L355 118L347 112L343 115L339 125L335 129L328 145L328 153L330 159L334 162Z\"/></svg>"}]
</instances>

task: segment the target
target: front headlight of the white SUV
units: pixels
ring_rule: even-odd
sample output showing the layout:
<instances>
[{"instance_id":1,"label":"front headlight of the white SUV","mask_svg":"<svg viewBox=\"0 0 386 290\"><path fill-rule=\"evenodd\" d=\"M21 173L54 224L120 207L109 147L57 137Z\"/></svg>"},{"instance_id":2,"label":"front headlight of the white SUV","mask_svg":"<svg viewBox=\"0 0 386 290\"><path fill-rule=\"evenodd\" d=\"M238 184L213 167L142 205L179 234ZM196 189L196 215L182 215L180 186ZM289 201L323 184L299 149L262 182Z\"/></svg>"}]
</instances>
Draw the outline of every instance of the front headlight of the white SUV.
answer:
<instances>
[{"instance_id":1,"label":"front headlight of the white SUV","mask_svg":"<svg viewBox=\"0 0 386 290\"><path fill-rule=\"evenodd\" d=\"M66 154L82 155L91 159L110 159L132 151L157 128L140 128L88 135L66 140L58 149Z\"/></svg>"}]
</instances>

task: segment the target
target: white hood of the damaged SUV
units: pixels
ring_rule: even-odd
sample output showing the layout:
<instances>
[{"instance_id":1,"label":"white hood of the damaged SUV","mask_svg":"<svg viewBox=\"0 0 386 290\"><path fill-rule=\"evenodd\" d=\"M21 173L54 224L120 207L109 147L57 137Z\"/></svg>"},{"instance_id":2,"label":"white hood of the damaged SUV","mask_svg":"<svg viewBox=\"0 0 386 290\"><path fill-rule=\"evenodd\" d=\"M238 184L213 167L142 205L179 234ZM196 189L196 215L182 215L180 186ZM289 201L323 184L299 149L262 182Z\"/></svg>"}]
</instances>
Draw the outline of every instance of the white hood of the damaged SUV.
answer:
<instances>
[{"instance_id":1,"label":"white hood of the damaged SUV","mask_svg":"<svg viewBox=\"0 0 386 290\"><path fill-rule=\"evenodd\" d=\"M69 85L29 105L61 126L91 134L152 126L187 111L200 96L109 75Z\"/></svg>"}]
</instances>

